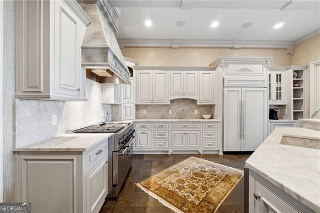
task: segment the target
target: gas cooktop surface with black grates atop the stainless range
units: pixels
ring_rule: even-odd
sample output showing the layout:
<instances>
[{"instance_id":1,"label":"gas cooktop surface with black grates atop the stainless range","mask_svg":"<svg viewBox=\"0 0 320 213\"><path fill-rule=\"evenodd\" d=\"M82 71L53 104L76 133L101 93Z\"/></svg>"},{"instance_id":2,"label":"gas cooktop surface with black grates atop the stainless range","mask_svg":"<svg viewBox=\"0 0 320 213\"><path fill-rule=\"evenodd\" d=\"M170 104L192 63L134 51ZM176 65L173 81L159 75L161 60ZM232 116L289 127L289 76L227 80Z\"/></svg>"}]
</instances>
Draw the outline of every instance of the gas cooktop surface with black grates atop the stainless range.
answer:
<instances>
[{"instance_id":1,"label":"gas cooktop surface with black grates atop the stainless range","mask_svg":"<svg viewBox=\"0 0 320 213\"><path fill-rule=\"evenodd\" d=\"M74 130L73 133L115 133L129 124L129 122L104 122Z\"/></svg>"}]
</instances>

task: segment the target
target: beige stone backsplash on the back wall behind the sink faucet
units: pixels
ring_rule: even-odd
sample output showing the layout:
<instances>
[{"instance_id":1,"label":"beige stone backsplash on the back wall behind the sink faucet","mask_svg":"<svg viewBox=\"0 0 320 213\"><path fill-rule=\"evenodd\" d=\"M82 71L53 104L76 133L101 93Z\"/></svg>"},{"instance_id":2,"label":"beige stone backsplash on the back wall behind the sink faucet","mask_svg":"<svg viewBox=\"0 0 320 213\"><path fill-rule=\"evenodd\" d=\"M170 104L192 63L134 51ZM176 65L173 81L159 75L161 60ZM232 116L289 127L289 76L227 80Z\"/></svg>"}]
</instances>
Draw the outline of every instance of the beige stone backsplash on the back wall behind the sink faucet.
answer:
<instances>
[{"instance_id":1,"label":"beige stone backsplash on the back wall behind the sink faucet","mask_svg":"<svg viewBox=\"0 0 320 213\"><path fill-rule=\"evenodd\" d=\"M178 118L177 112L185 112L185 118L202 118L202 114L213 114L214 105L197 105L196 100L188 98L174 99L170 101L168 105L135 105L135 118L136 119L174 119ZM143 110L145 109L145 114ZM194 110L197 110L198 113L195 114ZM172 111L169 114L169 110ZM211 117L212 118L212 117Z\"/></svg>"}]
</instances>

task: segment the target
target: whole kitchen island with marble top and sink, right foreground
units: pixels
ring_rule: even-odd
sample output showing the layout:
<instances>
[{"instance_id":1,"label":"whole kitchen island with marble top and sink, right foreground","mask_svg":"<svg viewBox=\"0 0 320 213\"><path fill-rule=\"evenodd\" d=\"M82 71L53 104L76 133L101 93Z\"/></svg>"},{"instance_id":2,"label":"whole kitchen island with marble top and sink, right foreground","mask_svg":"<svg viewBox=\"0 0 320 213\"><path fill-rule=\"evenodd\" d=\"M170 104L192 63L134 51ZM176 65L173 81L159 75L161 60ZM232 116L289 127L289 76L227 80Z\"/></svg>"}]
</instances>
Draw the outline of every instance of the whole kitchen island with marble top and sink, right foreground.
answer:
<instances>
[{"instance_id":1,"label":"whole kitchen island with marble top and sink, right foreground","mask_svg":"<svg viewBox=\"0 0 320 213\"><path fill-rule=\"evenodd\" d=\"M282 144L283 136L300 146ZM303 147L310 140L320 142L320 131L275 128L245 161L248 212L320 212L320 150Z\"/></svg>"}]
</instances>

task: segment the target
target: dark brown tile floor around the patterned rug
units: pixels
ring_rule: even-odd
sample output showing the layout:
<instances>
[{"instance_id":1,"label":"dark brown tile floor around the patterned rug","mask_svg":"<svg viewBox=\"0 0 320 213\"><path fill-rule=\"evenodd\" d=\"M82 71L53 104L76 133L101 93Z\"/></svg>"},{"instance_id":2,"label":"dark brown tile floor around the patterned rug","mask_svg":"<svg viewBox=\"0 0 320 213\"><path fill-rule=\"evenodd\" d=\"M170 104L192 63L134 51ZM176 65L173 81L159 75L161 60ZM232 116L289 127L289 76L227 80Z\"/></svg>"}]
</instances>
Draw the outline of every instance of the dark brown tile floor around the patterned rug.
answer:
<instances>
[{"instance_id":1,"label":"dark brown tile floor around the patterned rug","mask_svg":"<svg viewBox=\"0 0 320 213\"><path fill-rule=\"evenodd\" d=\"M244 161L249 154L134 154L132 167L129 171L119 196L106 200L100 210L105 212L173 212L151 197L135 183L167 168L181 160L195 156L216 163L243 170ZM225 198L216 212L243 212L243 177Z\"/></svg>"}]
</instances>

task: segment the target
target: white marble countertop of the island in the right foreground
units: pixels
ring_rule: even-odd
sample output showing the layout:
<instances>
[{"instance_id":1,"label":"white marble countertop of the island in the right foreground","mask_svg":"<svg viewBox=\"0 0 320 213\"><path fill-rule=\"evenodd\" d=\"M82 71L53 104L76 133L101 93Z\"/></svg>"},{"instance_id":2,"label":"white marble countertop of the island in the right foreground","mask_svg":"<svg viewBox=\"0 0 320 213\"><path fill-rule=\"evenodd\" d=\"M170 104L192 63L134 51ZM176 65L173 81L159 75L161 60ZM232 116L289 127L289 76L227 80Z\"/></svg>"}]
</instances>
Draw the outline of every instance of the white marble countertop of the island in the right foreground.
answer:
<instances>
[{"instance_id":1,"label":"white marble countertop of the island in the right foreground","mask_svg":"<svg viewBox=\"0 0 320 213\"><path fill-rule=\"evenodd\" d=\"M320 212L320 150L280 144L283 134L320 139L320 131L275 128L245 161L245 167Z\"/></svg>"}]
</instances>

